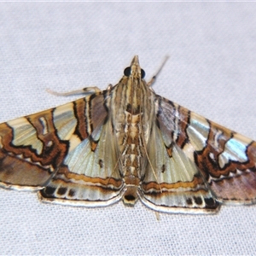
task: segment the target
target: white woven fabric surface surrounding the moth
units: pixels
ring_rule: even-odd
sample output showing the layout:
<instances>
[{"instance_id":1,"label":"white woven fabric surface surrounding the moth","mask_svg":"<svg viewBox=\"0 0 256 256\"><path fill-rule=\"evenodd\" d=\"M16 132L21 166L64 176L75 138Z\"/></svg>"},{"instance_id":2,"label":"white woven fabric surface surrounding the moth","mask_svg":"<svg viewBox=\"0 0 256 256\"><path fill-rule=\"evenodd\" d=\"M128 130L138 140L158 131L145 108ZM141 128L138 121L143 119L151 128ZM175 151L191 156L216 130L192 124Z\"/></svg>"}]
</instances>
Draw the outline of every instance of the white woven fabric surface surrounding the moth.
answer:
<instances>
[{"instance_id":1,"label":"white woven fabric surface surrounding the moth","mask_svg":"<svg viewBox=\"0 0 256 256\"><path fill-rule=\"evenodd\" d=\"M116 84L133 55L154 90L256 139L255 3L0 3L0 121ZM0 189L1 254L253 254L256 207L160 214L40 203Z\"/></svg>"}]
</instances>

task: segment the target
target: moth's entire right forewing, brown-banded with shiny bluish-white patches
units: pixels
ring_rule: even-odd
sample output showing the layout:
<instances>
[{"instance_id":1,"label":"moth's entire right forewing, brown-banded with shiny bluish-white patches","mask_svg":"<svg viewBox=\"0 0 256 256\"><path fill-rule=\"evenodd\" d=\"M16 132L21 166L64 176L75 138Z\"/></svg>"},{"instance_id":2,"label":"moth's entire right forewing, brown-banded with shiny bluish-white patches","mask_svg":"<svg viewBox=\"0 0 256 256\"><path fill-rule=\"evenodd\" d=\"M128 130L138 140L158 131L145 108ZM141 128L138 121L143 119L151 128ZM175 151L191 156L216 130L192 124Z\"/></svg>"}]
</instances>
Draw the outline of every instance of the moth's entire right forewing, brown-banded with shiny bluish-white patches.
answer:
<instances>
[{"instance_id":1,"label":"moth's entire right forewing, brown-banded with shiny bluish-white patches","mask_svg":"<svg viewBox=\"0 0 256 256\"><path fill-rule=\"evenodd\" d=\"M157 123L165 144L177 145L198 167L216 200L256 199L256 143L158 96Z\"/></svg>"}]
</instances>

